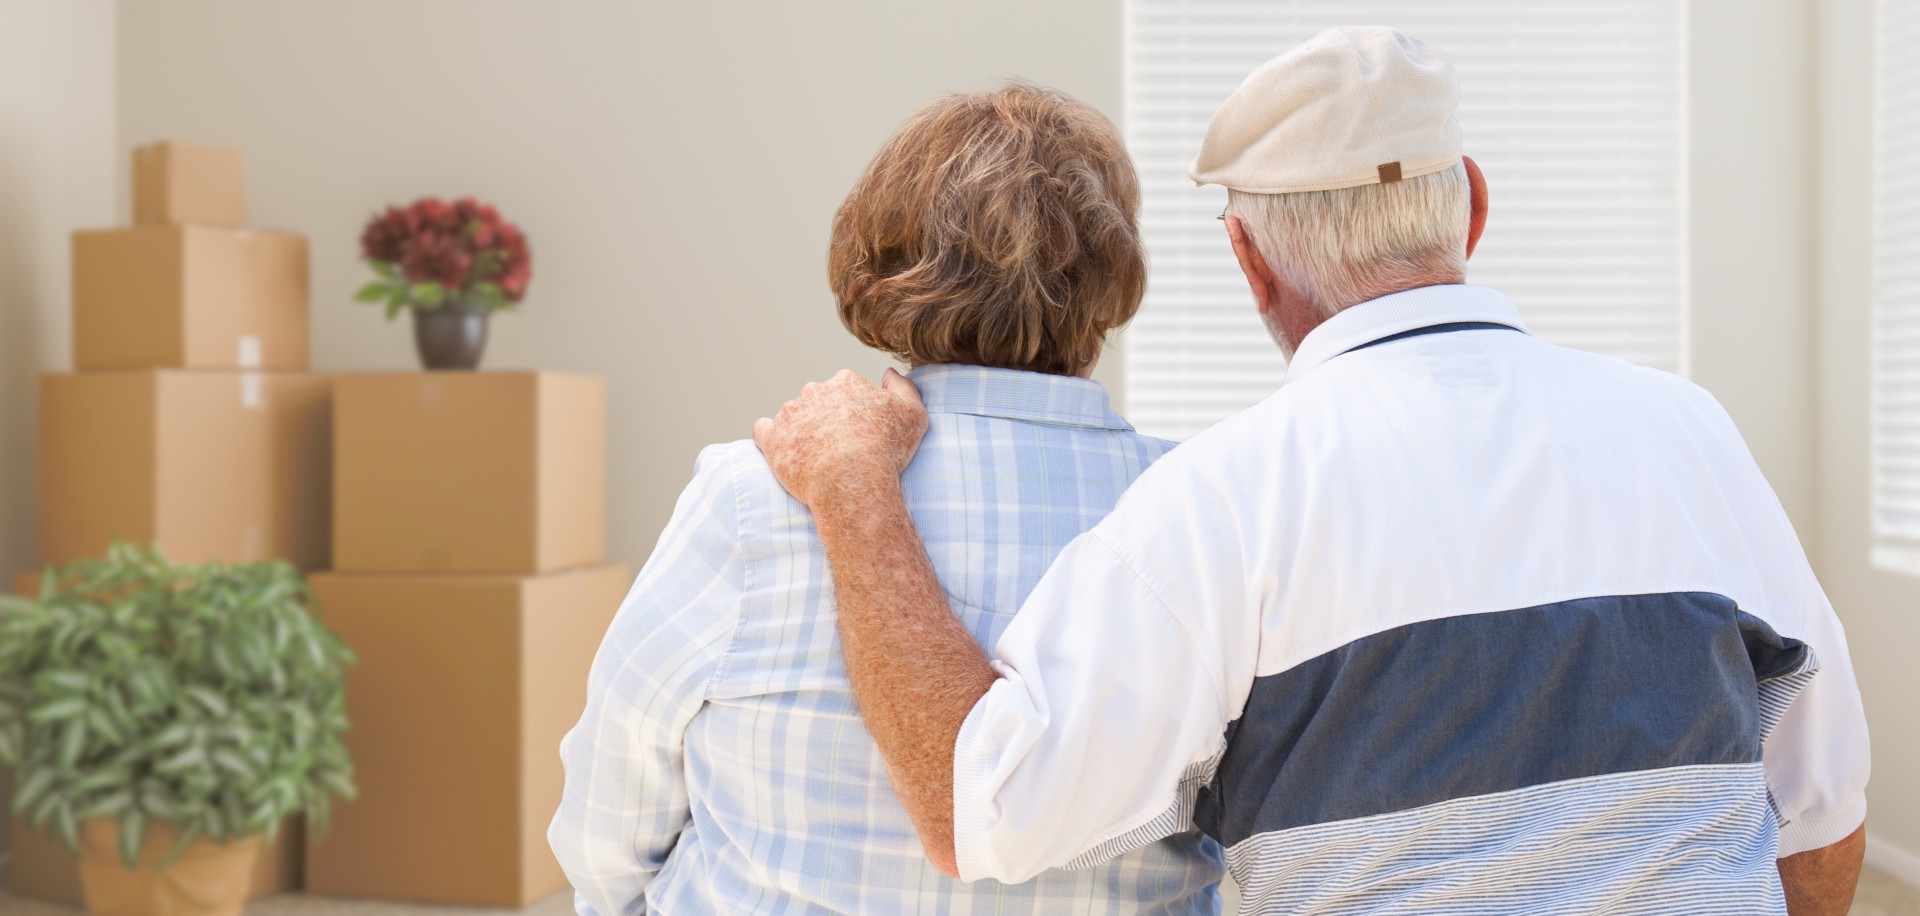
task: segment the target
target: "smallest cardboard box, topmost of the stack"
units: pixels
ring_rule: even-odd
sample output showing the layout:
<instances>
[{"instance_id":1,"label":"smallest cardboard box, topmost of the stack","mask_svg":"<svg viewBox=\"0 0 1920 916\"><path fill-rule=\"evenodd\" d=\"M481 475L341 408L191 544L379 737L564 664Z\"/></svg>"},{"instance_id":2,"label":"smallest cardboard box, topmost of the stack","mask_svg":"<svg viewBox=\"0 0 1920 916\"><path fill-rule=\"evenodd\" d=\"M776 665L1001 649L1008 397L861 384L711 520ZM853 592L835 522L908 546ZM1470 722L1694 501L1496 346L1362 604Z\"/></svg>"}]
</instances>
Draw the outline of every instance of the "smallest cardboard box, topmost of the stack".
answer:
<instances>
[{"instance_id":1,"label":"smallest cardboard box, topmost of the stack","mask_svg":"<svg viewBox=\"0 0 1920 916\"><path fill-rule=\"evenodd\" d=\"M175 142L134 148L132 223L244 227L246 154Z\"/></svg>"}]
</instances>

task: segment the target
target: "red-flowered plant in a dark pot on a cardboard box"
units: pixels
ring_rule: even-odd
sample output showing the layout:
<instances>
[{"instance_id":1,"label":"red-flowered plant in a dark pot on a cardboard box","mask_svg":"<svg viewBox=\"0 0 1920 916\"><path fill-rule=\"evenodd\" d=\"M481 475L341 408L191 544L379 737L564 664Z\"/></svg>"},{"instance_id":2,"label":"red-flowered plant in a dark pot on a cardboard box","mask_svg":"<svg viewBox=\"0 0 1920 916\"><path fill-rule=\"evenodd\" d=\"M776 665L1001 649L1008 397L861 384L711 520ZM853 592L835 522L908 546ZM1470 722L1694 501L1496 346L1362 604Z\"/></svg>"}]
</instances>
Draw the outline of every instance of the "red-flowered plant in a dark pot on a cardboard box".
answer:
<instances>
[{"instance_id":1,"label":"red-flowered plant in a dark pot on a cardboard box","mask_svg":"<svg viewBox=\"0 0 1920 916\"><path fill-rule=\"evenodd\" d=\"M388 321L413 311L426 369L478 367L488 315L518 303L534 277L520 227L474 198L386 207L361 230L361 257L374 278L353 298L384 305Z\"/></svg>"}]
</instances>

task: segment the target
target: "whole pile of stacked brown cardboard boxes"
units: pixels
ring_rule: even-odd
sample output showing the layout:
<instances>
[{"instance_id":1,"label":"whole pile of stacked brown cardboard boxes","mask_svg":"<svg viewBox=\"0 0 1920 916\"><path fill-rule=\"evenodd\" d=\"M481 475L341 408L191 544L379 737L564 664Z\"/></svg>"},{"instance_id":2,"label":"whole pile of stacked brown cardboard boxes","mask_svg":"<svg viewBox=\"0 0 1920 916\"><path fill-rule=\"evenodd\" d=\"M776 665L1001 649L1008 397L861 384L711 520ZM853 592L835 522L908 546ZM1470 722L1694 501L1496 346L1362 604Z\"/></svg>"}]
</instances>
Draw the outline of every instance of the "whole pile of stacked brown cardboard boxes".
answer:
<instances>
[{"instance_id":1,"label":"whole pile of stacked brown cardboard boxes","mask_svg":"<svg viewBox=\"0 0 1920 916\"><path fill-rule=\"evenodd\" d=\"M307 369L307 242L246 225L236 150L134 150L134 227L73 236L73 367L40 380L40 561L115 540L286 559L359 655L361 795L290 824L252 895L522 906L566 885L559 743L628 586L605 563L599 378ZM15 590L35 591L21 574ZM305 845L305 855L301 847ZM81 903L12 824L10 887Z\"/></svg>"}]
</instances>

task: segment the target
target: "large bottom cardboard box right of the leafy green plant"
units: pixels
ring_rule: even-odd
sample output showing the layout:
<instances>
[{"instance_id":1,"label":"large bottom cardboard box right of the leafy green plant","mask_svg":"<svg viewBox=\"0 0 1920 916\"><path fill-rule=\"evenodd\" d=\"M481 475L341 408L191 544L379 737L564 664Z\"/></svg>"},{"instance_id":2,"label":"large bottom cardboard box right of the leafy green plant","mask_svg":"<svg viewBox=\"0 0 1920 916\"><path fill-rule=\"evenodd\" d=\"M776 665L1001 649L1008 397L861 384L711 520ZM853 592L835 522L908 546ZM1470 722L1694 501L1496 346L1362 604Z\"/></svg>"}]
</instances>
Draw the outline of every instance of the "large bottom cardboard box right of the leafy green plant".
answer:
<instances>
[{"instance_id":1,"label":"large bottom cardboard box right of the leafy green plant","mask_svg":"<svg viewBox=\"0 0 1920 916\"><path fill-rule=\"evenodd\" d=\"M309 837L307 891L526 906L564 889L547 849L559 747L626 568L311 582L321 618L359 655L348 670L359 799Z\"/></svg>"}]
</instances>

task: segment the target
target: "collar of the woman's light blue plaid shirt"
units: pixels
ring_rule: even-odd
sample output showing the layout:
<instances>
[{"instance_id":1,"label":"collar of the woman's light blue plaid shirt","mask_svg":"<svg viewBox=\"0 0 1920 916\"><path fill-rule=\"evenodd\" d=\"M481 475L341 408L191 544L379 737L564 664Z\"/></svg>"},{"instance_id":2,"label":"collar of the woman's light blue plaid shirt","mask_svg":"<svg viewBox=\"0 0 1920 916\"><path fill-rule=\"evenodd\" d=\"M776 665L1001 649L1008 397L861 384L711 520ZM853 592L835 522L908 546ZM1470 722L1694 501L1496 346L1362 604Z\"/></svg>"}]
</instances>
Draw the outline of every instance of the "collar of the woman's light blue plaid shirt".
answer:
<instances>
[{"instance_id":1,"label":"collar of the woman's light blue plaid shirt","mask_svg":"<svg viewBox=\"0 0 1920 916\"><path fill-rule=\"evenodd\" d=\"M1106 401L1100 382L1066 374L979 365L924 365L906 373L927 413L972 413L1010 421L1133 430Z\"/></svg>"}]
</instances>

